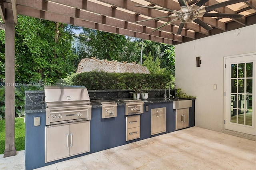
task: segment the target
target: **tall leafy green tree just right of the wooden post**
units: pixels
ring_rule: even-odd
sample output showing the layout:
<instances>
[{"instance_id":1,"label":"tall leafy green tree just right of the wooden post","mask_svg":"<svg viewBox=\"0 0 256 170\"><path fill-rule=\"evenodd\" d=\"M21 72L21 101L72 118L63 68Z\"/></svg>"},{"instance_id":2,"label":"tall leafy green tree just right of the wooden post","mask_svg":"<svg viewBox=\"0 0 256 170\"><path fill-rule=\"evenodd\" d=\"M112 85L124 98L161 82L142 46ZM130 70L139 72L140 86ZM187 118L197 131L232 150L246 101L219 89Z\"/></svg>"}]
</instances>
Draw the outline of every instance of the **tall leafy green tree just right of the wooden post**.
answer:
<instances>
[{"instance_id":1,"label":"tall leafy green tree just right of the wooden post","mask_svg":"<svg viewBox=\"0 0 256 170\"><path fill-rule=\"evenodd\" d=\"M18 16L16 81L55 83L76 69L72 35L61 23Z\"/></svg>"}]
</instances>

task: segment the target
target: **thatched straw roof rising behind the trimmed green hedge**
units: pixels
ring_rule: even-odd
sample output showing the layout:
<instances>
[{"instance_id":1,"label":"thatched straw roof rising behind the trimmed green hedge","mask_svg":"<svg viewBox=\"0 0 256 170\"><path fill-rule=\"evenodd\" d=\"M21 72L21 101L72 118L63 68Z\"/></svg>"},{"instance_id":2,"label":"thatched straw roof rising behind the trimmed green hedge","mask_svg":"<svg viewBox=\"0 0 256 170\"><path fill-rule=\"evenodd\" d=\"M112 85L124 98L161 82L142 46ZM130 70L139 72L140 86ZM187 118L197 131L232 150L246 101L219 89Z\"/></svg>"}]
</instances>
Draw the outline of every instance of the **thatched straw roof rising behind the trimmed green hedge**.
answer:
<instances>
[{"instance_id":1,"label":"thatched straw roof rising behind the trimmed green hedge","mask_svg":"<svg viewBox=\"0 0 256 170\"><path fill-rule=\"evenodd\" d=\"M108 73L145 73L150 74L148 69L144 66L134 62L117 62L100 60L96 58L84 58L78 64L76 73L90 72L90 71L105 71Z\"/></svg>"}]
</instances>

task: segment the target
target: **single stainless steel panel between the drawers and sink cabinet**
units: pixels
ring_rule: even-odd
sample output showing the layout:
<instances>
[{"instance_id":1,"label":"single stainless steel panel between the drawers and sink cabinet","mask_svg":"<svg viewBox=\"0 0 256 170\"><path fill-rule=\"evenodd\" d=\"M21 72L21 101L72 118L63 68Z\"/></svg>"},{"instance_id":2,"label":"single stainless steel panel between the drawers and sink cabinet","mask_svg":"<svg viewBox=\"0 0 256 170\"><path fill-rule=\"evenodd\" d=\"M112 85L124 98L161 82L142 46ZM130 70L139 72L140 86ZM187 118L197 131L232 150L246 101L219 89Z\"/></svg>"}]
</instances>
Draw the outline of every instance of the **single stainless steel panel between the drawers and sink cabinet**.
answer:
<instances>
[{"instance_id":1,"label":"single stainless steel panel between the drawers and sink cabinet","mask_svg":"<svg viewBox=\"0 0 256 170\"><path fill-rule=\"evenodd\" d=\"M166 132L166 107L151 109L151 135Z\"/></svg>"}]
</instances>

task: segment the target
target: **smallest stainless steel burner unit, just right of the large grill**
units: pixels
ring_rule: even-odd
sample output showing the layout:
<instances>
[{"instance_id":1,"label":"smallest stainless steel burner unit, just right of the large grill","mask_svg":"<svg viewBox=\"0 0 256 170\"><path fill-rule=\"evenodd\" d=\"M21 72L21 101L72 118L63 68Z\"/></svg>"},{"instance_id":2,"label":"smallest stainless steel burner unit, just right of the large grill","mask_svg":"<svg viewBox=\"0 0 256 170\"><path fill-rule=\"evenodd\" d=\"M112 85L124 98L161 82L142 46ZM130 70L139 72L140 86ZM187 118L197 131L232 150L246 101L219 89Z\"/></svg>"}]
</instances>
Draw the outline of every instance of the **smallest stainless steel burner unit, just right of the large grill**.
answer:
<instances>
[{"instance_id":1,"label":"smallest stainless steel burner unit, just right of the large grill","mask_svg":"<svg viewBox=\"0 0 256 170\"><path fill-rule=\"evenodd\" d=\"M110 118L110 117L116 117L117 111L116 107L117 104L114 101L109 100L92 100L94 103L98 103L102 105L102 119L104 118Z\"/></svg>"}]
</instances>

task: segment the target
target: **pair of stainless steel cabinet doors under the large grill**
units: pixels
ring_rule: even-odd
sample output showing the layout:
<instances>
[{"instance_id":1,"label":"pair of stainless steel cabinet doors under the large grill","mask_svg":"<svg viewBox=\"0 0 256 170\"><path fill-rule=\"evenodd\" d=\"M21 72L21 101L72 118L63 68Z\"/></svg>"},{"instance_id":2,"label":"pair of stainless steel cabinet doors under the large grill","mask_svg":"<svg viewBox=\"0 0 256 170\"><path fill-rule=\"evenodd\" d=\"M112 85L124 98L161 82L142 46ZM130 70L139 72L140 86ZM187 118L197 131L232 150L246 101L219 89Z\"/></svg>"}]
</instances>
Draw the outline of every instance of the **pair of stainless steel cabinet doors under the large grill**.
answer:
<instances>
[{"instance_id":1,"label":"pair of stainless steel cabinet doors under the large grill","mask_svg":"<svg viewBox=\"0 0 256 170\"><path fill-rule=\"evenodd\" d=\"M45 127L45 162L90 152L90 121Z\"/></svg>"}]
</instances>

